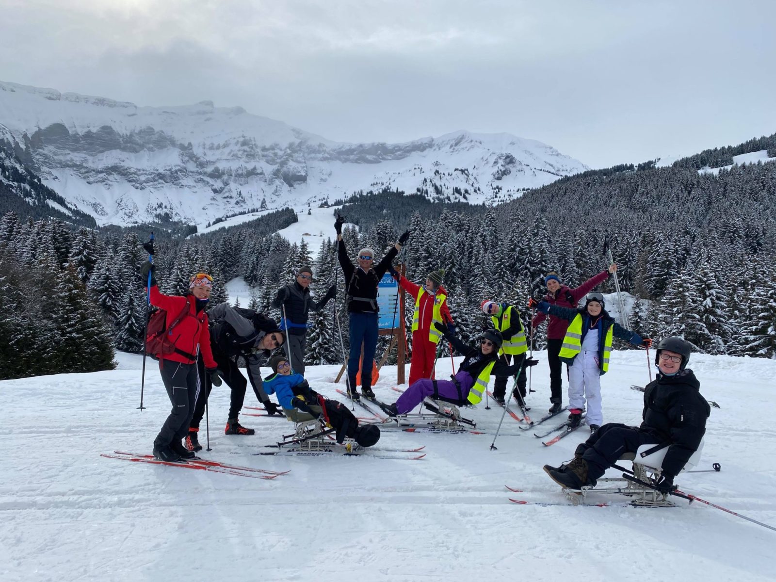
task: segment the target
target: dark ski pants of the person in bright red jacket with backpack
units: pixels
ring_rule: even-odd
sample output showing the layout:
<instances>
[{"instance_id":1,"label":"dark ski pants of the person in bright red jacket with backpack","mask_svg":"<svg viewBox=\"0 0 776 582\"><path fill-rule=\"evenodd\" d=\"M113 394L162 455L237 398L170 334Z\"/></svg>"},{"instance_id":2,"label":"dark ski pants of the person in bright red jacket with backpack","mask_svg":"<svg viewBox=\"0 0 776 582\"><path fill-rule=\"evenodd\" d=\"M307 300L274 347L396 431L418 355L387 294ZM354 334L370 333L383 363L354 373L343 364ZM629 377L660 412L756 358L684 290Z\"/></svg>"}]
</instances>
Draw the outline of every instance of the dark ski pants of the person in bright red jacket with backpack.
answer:
<instances>
[{"instance_id":1,"label":"dark ski pants of the person in bright red jacket with backpack","mask_svg":"<svg viewBox=\"0 0 776 582\"><path fill-rule=\"evenodd\" d=\"M199 375L196 363L182 364L171 360L161 360L159 372L170 397L172 410L154 439L154 445L165 446L175 438L184 438L189 432L194 403L199 394Z\"/></svg>"}]
</instances>

